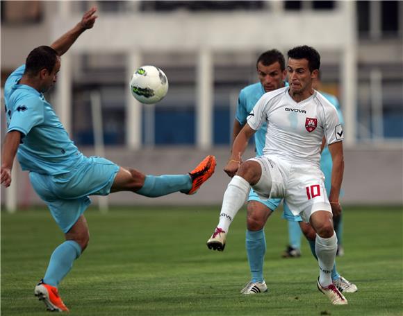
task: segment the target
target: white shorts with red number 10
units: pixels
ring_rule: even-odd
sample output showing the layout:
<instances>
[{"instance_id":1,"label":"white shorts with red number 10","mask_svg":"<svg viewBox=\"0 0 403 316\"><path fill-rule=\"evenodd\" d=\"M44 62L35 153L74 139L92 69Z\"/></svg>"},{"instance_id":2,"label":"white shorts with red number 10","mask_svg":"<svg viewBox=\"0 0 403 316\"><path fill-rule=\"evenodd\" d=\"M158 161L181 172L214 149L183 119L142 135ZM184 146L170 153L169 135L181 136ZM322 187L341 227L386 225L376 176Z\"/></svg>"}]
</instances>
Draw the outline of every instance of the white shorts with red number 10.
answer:
<instances>
[{"instance_id":1,"label":"white shorts with red number 10","mask_svg":"<svg viewBox=\"0 0 403 316\"><path fill-rule=\"evenodd\" d=\"M256 157L262 168L261 179L252 188L262 200L284 198L291 213L309 222L315 211L331 213L324 187L324 175L319 167L295 165L277 157Z\"/></svg>"}]
</instances>

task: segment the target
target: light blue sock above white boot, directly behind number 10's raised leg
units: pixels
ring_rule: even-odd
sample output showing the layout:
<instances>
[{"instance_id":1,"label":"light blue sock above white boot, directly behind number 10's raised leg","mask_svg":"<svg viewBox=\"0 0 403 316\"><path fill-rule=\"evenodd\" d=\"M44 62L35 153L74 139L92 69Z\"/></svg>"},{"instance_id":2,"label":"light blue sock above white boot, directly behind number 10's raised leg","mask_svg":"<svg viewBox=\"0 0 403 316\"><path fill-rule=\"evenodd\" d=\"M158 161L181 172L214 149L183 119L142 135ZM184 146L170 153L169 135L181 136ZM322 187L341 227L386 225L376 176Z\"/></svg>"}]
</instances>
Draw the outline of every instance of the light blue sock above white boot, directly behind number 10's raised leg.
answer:
<instances>
[{"instance_id":1,"label":"light blue sock above white boot, directly behind number 10's raised leg","mask_svg":"<svg viewBox=\"0 0 403 316\"><path fill-rule=\"evenodd\" d=\"M246 231L246 252L252 282L263 282L263 261L266 253L266 239L263 229Z\"/></svg>"}]
</instances>

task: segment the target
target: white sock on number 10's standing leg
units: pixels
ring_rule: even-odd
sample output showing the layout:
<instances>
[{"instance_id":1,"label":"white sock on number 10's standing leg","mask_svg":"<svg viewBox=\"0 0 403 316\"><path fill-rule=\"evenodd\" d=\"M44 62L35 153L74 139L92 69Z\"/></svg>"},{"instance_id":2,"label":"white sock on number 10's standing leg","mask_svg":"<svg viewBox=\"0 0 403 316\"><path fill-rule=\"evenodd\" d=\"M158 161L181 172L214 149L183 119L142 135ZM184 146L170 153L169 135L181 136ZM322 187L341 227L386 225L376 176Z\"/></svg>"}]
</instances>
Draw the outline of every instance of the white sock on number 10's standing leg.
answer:
<instances>
[{"instance_id":1,"label":"white sock on number 10's standing leg","mask_svg":"<svg viewBox=\"0 0 403 316\"><path fill-rule=\"evenodd\" d=\"M331 270L333 270L337 252L336 233L334 232L330 238L321 238L316 234L315 252L319 263L319 283L326 288L332 283Z\"/></svg>"}]
</instances>

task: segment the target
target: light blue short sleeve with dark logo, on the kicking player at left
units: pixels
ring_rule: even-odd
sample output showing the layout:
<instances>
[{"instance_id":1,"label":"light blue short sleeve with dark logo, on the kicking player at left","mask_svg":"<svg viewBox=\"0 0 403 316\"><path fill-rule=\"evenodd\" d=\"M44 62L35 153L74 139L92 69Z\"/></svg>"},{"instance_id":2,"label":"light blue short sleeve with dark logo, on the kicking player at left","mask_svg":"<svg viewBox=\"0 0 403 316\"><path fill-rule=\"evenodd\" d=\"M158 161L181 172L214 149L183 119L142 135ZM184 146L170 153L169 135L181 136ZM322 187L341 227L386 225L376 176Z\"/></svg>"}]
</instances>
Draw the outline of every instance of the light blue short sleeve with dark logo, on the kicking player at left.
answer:
<instances>
[{"instance_id":1,"label":"light blue short sleeve with dark logo, on the kicking player at left","mask_svg":"<svg viewBox=\"0 0 403 316\"><path fill-rule=\"evenodd\" d=\"M15 102L8 132L18 130L23 134L44 121L44 106L39 97L21 98Z\"/></svg>"}]
</instances>

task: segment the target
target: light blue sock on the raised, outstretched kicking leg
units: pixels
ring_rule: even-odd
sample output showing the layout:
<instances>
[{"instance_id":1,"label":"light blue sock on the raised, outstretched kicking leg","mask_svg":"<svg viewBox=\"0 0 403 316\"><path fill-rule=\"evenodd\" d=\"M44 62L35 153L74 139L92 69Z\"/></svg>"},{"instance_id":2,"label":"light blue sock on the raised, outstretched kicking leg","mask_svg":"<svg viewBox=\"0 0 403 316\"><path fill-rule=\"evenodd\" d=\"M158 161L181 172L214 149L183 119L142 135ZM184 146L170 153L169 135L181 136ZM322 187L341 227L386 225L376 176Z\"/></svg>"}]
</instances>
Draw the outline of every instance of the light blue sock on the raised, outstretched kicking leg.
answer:
<instances>
[{"instance_id":1,"label":"light blue sock on the raised, outstretched kicking leg","mask_svg":"<svg viewBox=\"0 0 403 316\"><path fill-rule=\"evenodd\" d=\"M190 188L192 179L189 175L146 175L144 185L135 193L156 198L178 191L186 193Z\"/></svg>"}]
</instances>

